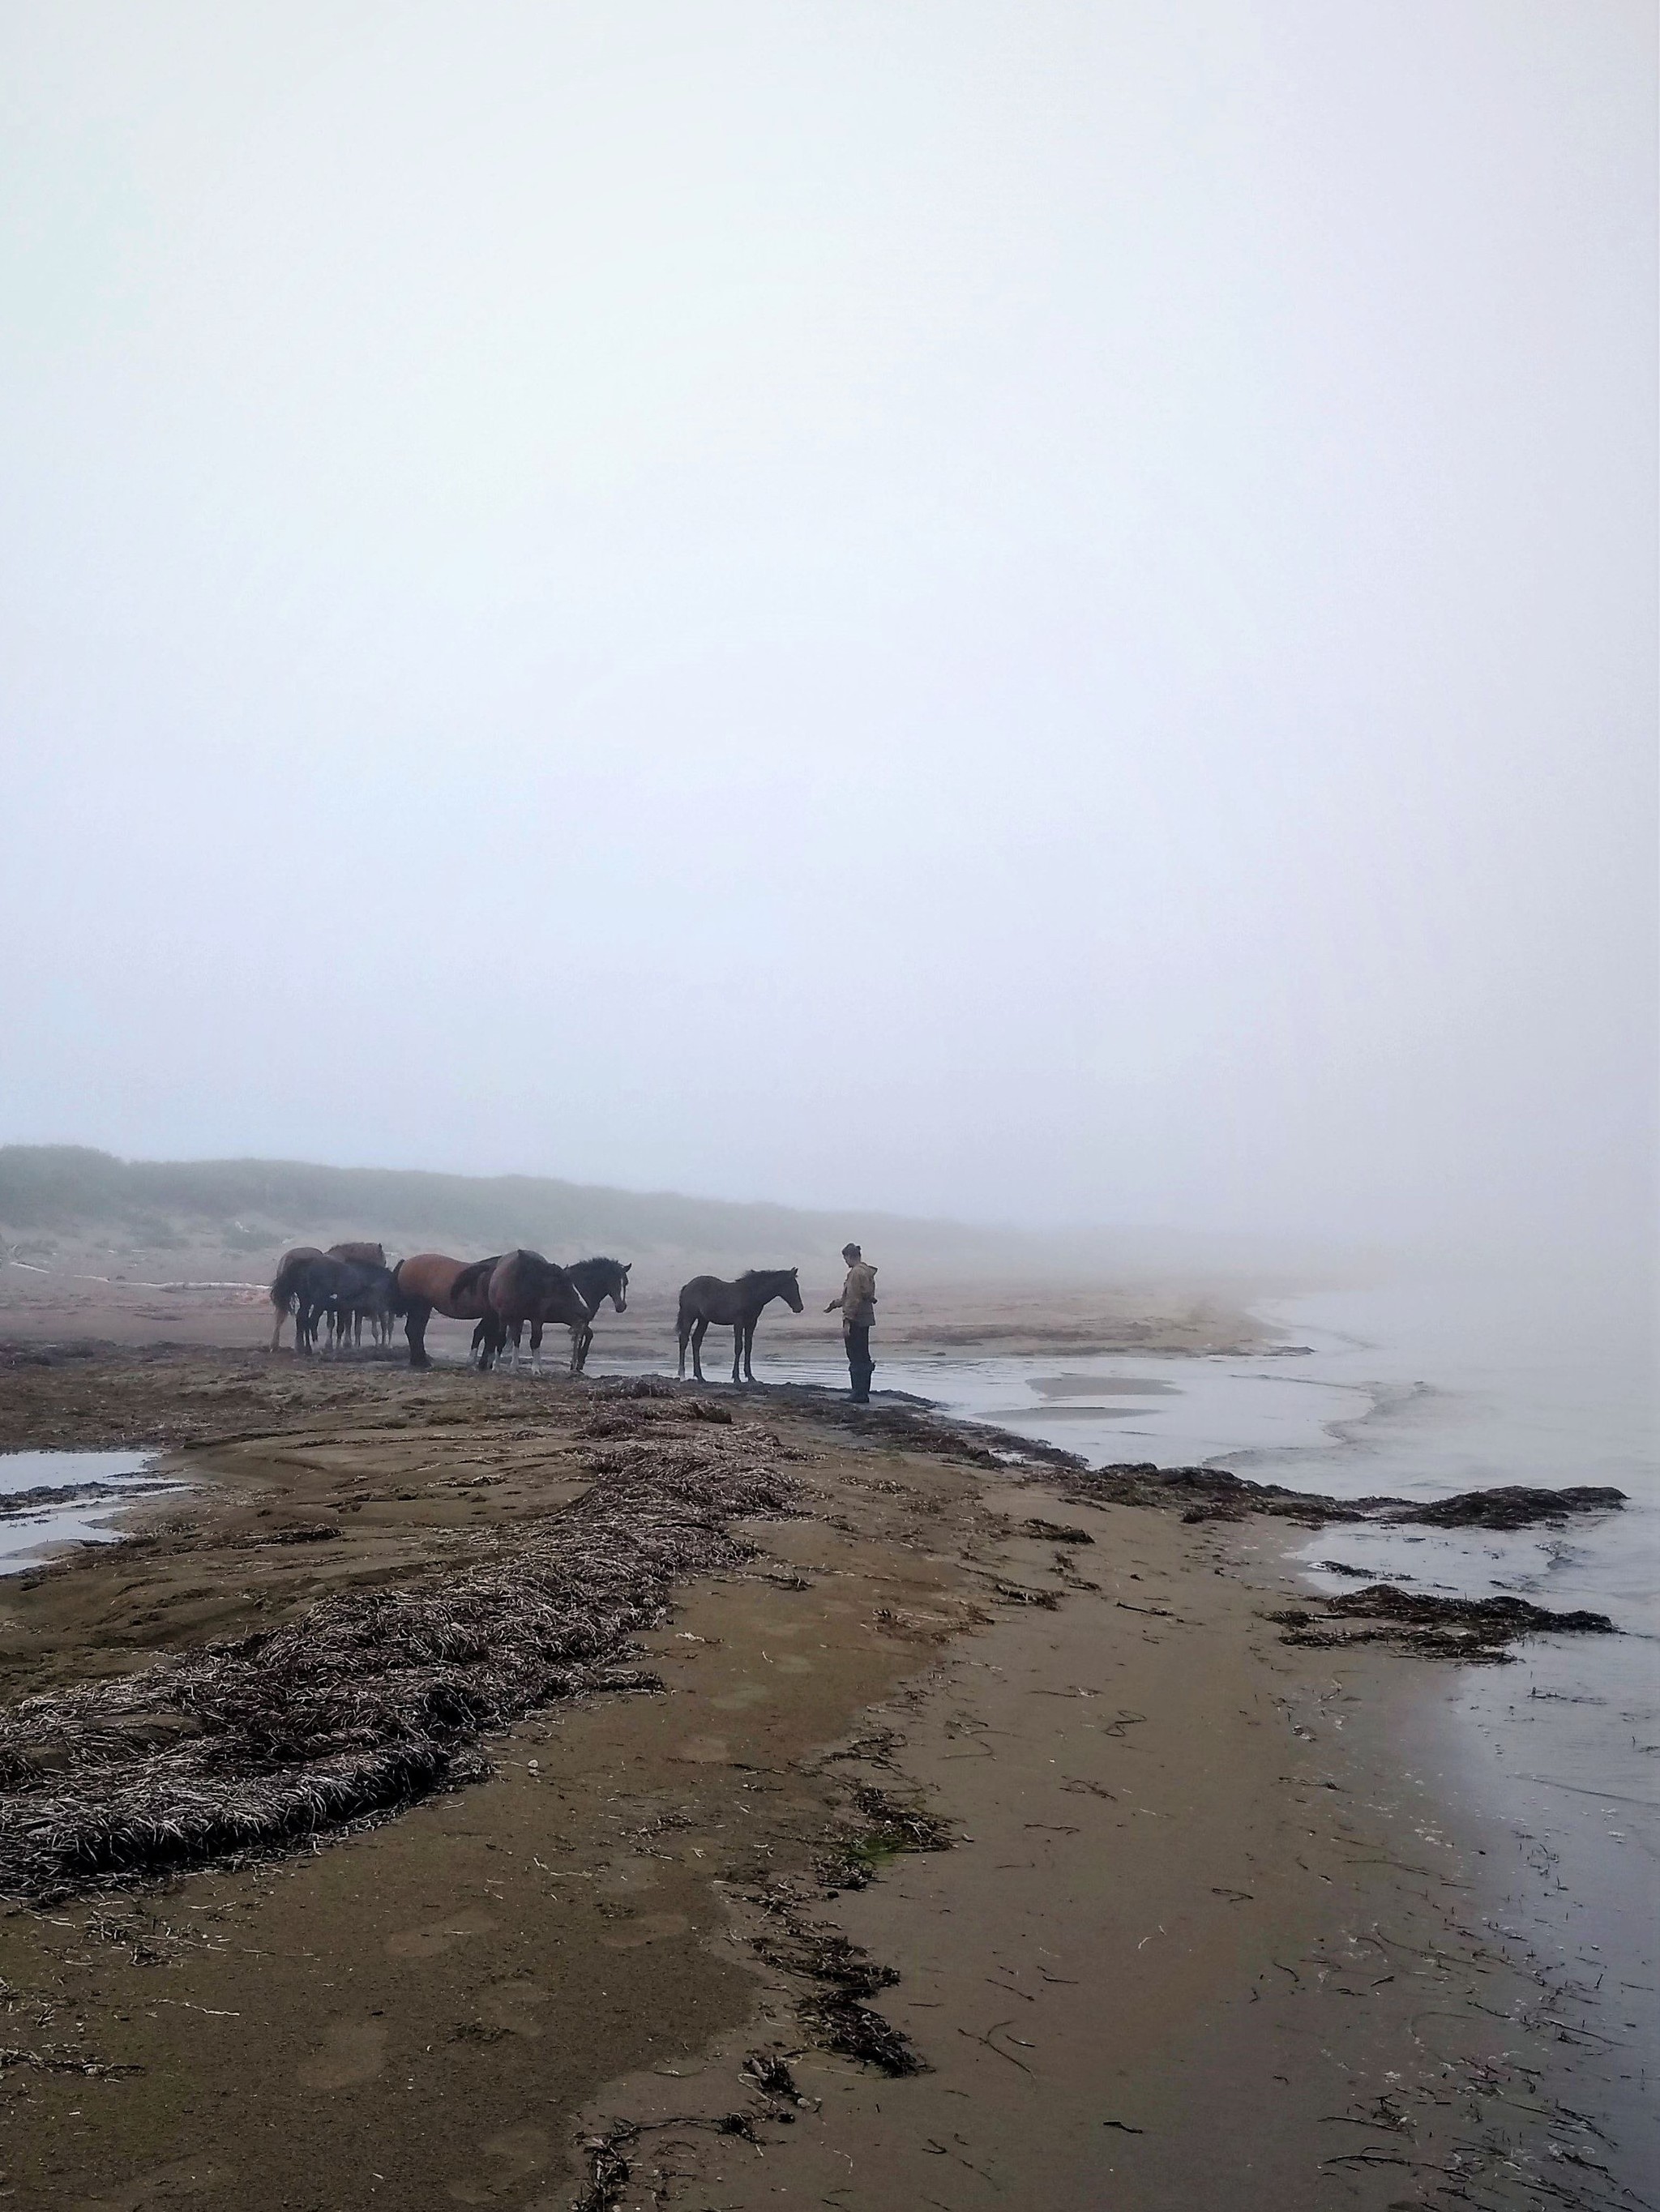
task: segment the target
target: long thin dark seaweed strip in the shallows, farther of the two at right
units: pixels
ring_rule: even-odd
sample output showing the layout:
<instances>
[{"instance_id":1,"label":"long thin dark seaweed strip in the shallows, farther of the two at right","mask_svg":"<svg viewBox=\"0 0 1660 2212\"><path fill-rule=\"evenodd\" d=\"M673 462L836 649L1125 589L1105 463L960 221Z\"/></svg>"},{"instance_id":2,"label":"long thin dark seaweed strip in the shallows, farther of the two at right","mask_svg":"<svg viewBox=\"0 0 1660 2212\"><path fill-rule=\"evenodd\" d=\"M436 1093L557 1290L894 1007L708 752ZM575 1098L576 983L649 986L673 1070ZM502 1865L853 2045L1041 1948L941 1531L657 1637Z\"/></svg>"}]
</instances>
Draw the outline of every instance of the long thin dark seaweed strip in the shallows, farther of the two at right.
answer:
<instances>
[{"instance_id":1,"label":"long thin dark seaweed strip in the shallows, farther of the two at right","mask_svg":"<svg viewBox=\"0 0 1660 2212\"><path fill-rule=\"evenodd\" d=\"M1625 1504L1625 1491L1580 1484L1549 1491L1507 1484L1492 1491L1456 1491L1452 1498L1321 1498L1317 1491L1288 1491L1279 1482L1248 1482L1224 1467L1153 1467L1147 1460L1102 1467L1073 1478L1080 1504L1180 1506L1182 1520L1244 1520L1266 1513L1275 1520L1304 1522L1319 1528L1326 1522L1410 1522L1428 1528L1536 1528L1560 1524L1576 1513L1611 1513Z\"/></svg>"}]
</instances>

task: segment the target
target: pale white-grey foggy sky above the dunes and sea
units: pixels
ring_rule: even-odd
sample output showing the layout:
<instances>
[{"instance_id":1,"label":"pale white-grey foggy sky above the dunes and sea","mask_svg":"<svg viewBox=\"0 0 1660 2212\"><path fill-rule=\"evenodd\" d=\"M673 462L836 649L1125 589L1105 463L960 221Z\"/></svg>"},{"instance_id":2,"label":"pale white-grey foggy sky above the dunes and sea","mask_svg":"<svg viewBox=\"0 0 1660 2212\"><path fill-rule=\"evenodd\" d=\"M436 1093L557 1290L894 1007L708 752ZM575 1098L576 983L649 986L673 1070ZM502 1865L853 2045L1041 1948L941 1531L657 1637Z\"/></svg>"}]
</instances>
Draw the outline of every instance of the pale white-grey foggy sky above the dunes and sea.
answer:
<instances>
[{"instance_id":1,"label":"pale white-grey foggy sky above the dunes and sea","mask_svg":"<svg viewBox=\"0 0 1660 2212\"><path fill-rule=\"evenodd\" d=\"M1649 7L0 24L0 1139L1645 1217Z\"/></svg>"}]
</instances>

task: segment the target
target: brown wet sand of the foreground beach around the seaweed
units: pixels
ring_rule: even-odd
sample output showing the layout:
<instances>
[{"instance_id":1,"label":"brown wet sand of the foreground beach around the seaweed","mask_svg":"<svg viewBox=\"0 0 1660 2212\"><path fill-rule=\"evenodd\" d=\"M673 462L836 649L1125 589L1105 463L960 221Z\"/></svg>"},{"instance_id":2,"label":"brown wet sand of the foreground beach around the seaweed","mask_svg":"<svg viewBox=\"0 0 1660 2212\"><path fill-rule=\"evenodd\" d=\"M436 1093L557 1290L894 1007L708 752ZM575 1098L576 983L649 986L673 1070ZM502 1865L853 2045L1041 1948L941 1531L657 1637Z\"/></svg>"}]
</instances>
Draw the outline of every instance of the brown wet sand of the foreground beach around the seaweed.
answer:
<instances>
[{"instance_id":1,"label":"brown wet sand of the foreground beach around the seaweed","mask_svg":"<svg viewBox=\"0 0 1660 2212\"><path fill-rule=\"evenodd\" d=\"M695 1396L0 1369L0 1447L162 1444L195 1484L0 1582L7 1703L511 1546L618 1438L695 1427L792 1509L633 1637L660 1690L525 1717L487 1781L9 1909L0 2203L1638 2201L1565 2108L1605 2059L1399 1772L1421 1661L1288 1648L1259 1526L1085 1504L903 1413ZM894 1849L892 1807L954 1847ZM826 2048L850 1991L925 2070Z\"/></svg>"}]
</instances>

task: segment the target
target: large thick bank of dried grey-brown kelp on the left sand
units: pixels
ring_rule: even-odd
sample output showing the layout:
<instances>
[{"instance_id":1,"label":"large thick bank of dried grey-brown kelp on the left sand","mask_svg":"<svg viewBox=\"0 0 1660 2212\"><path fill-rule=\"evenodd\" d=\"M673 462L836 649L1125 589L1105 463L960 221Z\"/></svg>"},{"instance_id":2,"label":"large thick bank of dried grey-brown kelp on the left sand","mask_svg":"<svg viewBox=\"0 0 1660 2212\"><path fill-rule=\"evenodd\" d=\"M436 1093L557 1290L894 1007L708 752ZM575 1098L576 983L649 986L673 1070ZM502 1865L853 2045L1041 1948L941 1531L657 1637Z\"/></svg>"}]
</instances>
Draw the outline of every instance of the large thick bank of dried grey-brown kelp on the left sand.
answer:
<instances>
[{"instance_id":1,"label":"large thick bank of dried grey-brown kelp on the left sand","mask_svg":"<svg viewBox=\"0 0 1660 2212\"><path fill-rule=\"evenodd\" d=\"M598 1462L600 1455L595 1455ZM730 1568L730 1522L788 1511L744 1431L604 1455L582 1498L458 1571L0 1714L0 1893L35 1902L303 1843L487 1772L478 1739L615 1661L675 1582Z\"/></svg>"}]
</instances>

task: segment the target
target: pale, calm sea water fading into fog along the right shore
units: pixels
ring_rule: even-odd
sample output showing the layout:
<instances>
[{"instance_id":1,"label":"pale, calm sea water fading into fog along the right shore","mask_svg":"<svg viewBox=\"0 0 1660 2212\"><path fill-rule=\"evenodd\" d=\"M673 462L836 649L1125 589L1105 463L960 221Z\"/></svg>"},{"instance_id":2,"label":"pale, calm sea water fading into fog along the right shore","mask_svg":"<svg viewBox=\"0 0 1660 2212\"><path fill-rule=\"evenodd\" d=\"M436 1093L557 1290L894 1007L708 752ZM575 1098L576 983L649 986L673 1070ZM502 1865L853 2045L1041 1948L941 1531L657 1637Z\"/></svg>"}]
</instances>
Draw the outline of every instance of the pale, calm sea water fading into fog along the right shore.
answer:
<instances>
[{"instance_id":1,"label":"pale, calm sea water fading into fog along the right shore","mask_svg":"<svg viewBox=\"0 0 1660 2212\"><path fill-rule=\"evenodd\" d=\"M1607 1613L1618 1637L1543 1635L1512 1666L1436 1677L1403 1759L1487 1836L1494 1929L1554 1986L1594 2002L1629 2097L1625 2157L1660 2166L1660 1449L1656 1345L1640 1301L1596 1285L1394 1283L1259 1307L1273 1354L896 1354L876 1387L998 1422L1091 1467L1228 1467L1337 1498L1445 1498L1609 1484L1627 1506L1514 1535L1332 1524L1297 1537L1324 1562L1408 1588L1516 1593ZM768 1380L779 1374L772 1367ZM839 1380L828 1360L788 1369ZM845 1374L845 1369L843 1369ZM1589 2015L1587 2015L1589 2017ZM1640 2148L1642 2130L1647 2150ZM1642 2170L1629 2166L1627 2170Z\"/></svg>"}]
</instances>

